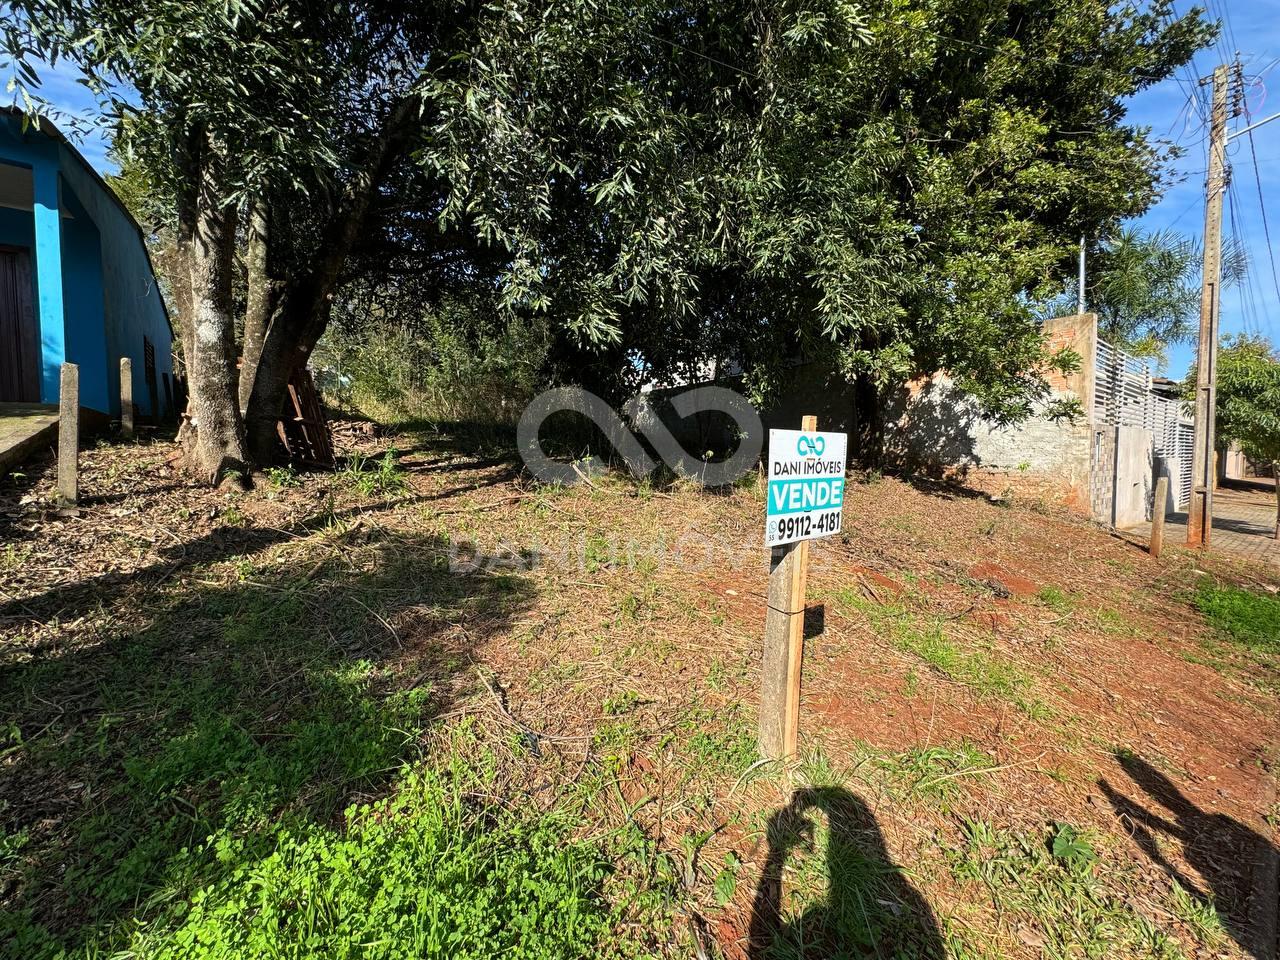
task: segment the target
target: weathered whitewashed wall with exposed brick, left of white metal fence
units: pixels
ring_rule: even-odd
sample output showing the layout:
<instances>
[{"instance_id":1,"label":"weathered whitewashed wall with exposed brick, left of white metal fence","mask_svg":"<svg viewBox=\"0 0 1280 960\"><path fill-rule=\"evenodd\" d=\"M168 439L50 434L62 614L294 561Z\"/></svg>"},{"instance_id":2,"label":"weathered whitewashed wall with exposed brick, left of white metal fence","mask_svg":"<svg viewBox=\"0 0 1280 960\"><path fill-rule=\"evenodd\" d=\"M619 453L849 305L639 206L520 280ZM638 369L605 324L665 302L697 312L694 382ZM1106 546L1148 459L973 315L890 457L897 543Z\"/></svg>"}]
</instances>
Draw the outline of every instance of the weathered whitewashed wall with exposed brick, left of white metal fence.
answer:
<instances>
[{"instance_id":1,"label":"weathered whitewashed wall with exposed brick, left of white metal fence","mask_svg":"<svg viewBox=\"0 0 1280 960\"><path fill-rule=\"evenodd\" d=\"M1082 357L1075 374L1047 376L1060 396L1080 401L1085 416L1076 422L1032 416L1016 426L998 426L950 378L934 375L913 381L891 402L887 460L936 476L961 476L988 489L1047 495L1089 513L1094 329L1092 314L1044 325L1052 349L1070 347Z\"/></svg>"}]
</instances>

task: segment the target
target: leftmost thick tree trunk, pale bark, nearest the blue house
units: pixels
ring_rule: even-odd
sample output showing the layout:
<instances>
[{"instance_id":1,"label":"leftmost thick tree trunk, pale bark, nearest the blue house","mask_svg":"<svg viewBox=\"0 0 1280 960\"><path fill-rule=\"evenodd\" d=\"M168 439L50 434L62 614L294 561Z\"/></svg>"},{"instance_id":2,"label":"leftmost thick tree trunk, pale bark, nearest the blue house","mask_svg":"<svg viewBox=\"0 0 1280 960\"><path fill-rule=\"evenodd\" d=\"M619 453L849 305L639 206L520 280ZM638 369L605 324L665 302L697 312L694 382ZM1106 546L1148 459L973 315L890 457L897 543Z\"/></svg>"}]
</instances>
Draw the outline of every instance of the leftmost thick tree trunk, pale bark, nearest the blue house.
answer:
<instances>
[{"instance_id":1,"label":"leftmost thick tree trunk, pale bark, nearest the blue house","mask_svg":"<svg viewBox=\"0 0 1280 960\"><path fill-rule=\"evenodd\" d=\"M244 426L236 379L236 325L232 307L232 269L236 214L223 205L221 160L206 146L201 151L191 243L191 428L189 466L218 485L243 483L248 471Z\"/></svg>"}]
</instances>

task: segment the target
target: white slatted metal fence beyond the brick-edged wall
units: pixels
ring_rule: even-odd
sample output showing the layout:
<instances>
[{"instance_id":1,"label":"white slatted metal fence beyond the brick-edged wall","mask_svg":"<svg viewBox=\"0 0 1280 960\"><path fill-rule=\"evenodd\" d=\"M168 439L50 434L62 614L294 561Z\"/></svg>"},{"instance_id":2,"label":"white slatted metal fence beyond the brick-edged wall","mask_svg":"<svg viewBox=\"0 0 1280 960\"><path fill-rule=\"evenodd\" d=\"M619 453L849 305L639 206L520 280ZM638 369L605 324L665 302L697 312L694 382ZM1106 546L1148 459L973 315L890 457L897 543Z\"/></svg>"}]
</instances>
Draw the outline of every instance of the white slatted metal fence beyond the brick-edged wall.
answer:
<instances>
[{"instance_id":1,"label":"white slatted metal fence beyond the brick-edged wall","mask_svg":"<svg viewBox=\"0 0 1280 960\"><path fill-rule=\"evenodd\" d=\"M1194 428L1180 399L1151 389L1151 367L1123 349L1098 340L1094 366L1093 419L1098 424L1151 430L1156 470L1169 472L1176 509L1192 497Z\"/></svg>"}]
</instances>

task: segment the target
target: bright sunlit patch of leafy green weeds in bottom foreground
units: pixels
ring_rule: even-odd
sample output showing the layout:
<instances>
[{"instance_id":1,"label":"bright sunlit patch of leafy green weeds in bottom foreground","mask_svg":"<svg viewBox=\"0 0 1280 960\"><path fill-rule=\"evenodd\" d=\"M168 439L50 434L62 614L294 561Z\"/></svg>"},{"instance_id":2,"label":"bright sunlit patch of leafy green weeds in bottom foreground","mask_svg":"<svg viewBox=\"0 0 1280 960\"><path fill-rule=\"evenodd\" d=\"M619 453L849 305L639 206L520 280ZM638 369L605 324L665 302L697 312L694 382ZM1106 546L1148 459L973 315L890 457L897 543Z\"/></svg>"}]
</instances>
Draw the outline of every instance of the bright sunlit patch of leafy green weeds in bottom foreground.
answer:
<instances>
[{"instance_id":1,"label":"bright sunlit patch of leafy green weeds in bottom foreground","mask_svg":"<svg viewBox=\"0 0 1280 960\"><path fill-rule=\"evenodd\" d=\"M180 924L142 938L147 955L595 956L608 929L599 847L572 840L563 815L468 803L485 776L451 773L406 776L390 799L351 808L342 829L283 827L265 855L261 838L218 837L232 869Z\"/></svg>"}]
</instances>

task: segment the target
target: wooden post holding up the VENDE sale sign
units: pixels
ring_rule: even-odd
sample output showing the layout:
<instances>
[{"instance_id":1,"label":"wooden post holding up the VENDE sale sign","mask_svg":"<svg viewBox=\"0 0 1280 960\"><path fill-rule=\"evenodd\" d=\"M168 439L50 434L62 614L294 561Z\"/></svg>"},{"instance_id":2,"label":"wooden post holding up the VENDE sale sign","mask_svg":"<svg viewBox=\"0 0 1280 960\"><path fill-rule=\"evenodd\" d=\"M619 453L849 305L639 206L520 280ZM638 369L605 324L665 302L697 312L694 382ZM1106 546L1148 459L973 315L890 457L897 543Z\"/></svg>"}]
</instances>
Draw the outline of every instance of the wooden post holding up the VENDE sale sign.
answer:
<instances>
[{"instance_id":1,"label":"wooden post holding up the VENDE sale sign","mask_svg":"<svg viewBox=\"0 0 1280 960\"><path fill-rule=\"evenodd\" d=\"M804 417L801 430L818 429ZM769 559L768 608L760 686L760 755L795 756L800 730L800 668L804 662L804 595L809 579L809 541L774 547Z\"/></svg>"}]
</instances>

